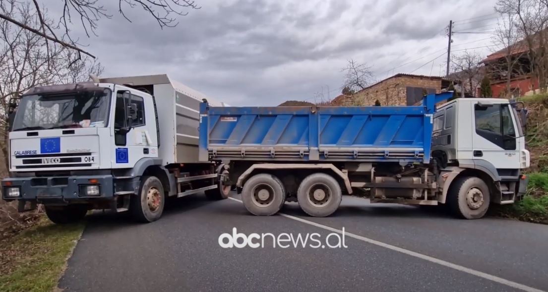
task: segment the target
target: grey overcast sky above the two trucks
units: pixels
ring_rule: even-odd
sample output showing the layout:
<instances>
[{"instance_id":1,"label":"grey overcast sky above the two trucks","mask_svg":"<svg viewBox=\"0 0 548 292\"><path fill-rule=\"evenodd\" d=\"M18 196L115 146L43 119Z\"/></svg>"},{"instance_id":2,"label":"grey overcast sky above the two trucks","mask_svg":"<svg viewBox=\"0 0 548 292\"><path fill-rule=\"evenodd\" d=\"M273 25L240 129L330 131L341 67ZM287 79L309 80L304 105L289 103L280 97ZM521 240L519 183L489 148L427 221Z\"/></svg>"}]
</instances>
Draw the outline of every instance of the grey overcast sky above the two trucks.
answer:
<instances>
[{"instance_id":1,"label":"grey overcast sky above the two trucks","mask_svg":"<svg viewBox=\"0 0 548 292\"><path fill-rule=\"evenodd\" d=\"M496 25L495 0L196 3L202 8L163 30L141 9L127 10L129 23L113 7L112 19L99 22L98 37L81 41L105 66L103 77L167 73L231 105L278 105L313 102L322 90L326 99L339 95L341 68L350 58L372 66L378 80L395 73L439 76L450 19L458 21L455 31L493 31ZM489 37L458 34L453 46L482 47ZM487 55L492 49L476 50Z\"/></svg>"}]
</instances>

